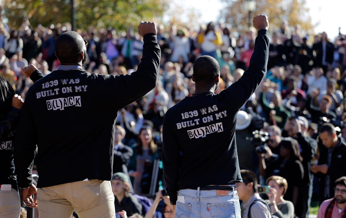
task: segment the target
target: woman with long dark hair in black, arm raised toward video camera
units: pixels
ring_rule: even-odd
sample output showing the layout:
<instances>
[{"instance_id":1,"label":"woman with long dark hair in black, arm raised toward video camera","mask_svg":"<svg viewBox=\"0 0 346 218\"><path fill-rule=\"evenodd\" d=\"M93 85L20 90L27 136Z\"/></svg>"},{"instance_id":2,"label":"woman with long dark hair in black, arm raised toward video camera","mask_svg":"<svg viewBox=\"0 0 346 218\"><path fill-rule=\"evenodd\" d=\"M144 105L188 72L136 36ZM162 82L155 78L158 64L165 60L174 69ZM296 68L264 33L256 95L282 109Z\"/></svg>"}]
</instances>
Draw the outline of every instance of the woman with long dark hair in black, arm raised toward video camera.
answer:
<instances>
[{"instance_id":1,"label":"woman with long dark hair in black, arm raised toward video camera","mask_svg":"<svg viewBox=\"0 0 346 218\"><path fill-rule=\"evenodd\" d=\"M287 191L284 195L284 199L291 201L295 207L297 214L298 191L303 182L304 169L302 165L302 156L300 155L300 149L298 141L294 138L283 138L279 144L280 157L268 164L264 162L264 158L260 156L260 173L265 178L277 175L285 178L288 183Z\"/></svg>"}]
</instances>

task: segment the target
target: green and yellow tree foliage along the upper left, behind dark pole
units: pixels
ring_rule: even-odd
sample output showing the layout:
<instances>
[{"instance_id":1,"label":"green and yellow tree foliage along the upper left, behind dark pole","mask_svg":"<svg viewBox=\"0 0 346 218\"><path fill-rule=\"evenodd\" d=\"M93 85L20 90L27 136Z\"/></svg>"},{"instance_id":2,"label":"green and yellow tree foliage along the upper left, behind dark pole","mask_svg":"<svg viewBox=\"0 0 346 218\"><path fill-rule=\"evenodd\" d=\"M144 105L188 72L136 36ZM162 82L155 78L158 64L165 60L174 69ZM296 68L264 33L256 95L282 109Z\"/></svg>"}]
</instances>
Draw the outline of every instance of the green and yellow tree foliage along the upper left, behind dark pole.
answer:
<instances>
[{"instance_id":1,"label":"green and yellow tree foliage along the upper left, behind dark pole","mask_svg":"<svg viewBox=\"0 0 346 218\"><path fill-rule=\"evenodd\" d=\"M94 25L125 30L140 20L162 19L167 0L75 0L75 7L79 29ZM26 17L34 27L71 22L70 0L5 0L4 9L15 28Z\"/></svg>"}]
</instances>

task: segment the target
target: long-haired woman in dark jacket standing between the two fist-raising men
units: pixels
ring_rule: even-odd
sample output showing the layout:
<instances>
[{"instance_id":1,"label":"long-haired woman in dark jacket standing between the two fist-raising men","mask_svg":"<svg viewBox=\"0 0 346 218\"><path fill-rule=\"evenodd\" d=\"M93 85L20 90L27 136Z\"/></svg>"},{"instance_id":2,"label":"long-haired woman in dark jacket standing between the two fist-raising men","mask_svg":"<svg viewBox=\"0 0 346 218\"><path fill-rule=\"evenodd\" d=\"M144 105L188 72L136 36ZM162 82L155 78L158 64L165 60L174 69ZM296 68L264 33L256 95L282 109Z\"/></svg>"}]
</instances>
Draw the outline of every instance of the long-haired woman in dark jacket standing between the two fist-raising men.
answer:
<instances>
[{"instance_id":1,"label":"long-haired woman in dark jacket standing between the two fist-raising men","mask_svg":"<svg viewBox=\"0 0 346 218\"><path fill-rule=\"evenodd\" d=\"M138 142L132 145L131 148L133 149L133 156L130 159L128 172L134 178L132 184L135 194L143 195L144 190L141 187L142 175L145 167L153 163L157 156L151 127L144 126L139 130Z\"/></svg>"}]
</instances>

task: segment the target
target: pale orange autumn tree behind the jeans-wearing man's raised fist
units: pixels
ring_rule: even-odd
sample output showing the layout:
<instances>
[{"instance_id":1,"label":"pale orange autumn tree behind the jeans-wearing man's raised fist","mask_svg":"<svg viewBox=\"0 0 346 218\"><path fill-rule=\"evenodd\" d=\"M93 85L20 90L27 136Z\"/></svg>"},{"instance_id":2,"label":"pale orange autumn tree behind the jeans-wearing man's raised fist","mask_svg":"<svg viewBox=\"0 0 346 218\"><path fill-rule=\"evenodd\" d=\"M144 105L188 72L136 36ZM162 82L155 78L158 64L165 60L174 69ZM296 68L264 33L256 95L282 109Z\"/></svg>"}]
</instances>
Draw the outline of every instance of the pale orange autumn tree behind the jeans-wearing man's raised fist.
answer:
<instances>
[{"instance_id":1,"label":"pale orange autumn tree behind the jeans-wearing man's raised fist","mask_svg":"<svg viewBox=\"0 0 346 218\"><path fill-rule=\"evenodd\" d=\"M222 0L227 7L221 10L220 18L229 24L233 31L244 33L248 29L248 11L246 0ZM266 15L269 20L269 29L277 30L283 21L288 21L290 27L300 25L301 30L307 34L313 34L313 25L308 16L305 0L256 0L256 10L252 12L252 18L256 15Z\"/></svg>"}]
</instances>

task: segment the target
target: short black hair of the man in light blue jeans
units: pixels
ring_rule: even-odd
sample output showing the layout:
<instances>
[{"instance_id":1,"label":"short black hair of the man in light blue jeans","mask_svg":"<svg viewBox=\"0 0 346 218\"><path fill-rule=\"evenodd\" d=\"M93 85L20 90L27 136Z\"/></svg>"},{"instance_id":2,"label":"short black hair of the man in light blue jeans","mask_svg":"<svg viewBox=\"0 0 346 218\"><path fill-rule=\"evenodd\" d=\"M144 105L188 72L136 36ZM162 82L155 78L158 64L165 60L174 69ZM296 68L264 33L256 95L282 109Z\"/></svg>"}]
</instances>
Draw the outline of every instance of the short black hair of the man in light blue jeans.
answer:
<instances>
[{"instance_id":1,"label":"short black hair of the man in light blue jeans","mask_svg":"<svg viewBox=\"0 0 346 218\"><path fill-rule=\"evenodd\" d=\"M209 55L200 56L193 63L195 82L211 82L219 73L219 63Z\"/></svg>"}]
</instances>

